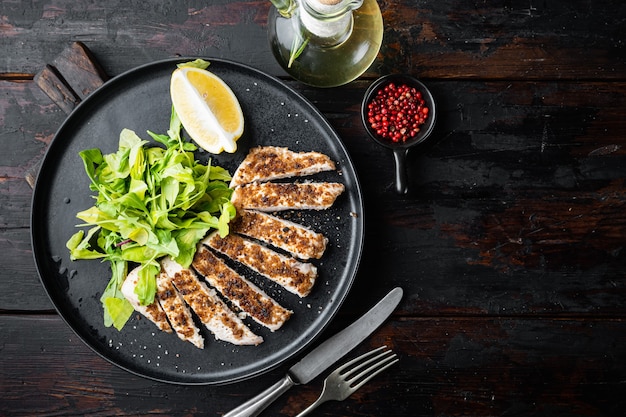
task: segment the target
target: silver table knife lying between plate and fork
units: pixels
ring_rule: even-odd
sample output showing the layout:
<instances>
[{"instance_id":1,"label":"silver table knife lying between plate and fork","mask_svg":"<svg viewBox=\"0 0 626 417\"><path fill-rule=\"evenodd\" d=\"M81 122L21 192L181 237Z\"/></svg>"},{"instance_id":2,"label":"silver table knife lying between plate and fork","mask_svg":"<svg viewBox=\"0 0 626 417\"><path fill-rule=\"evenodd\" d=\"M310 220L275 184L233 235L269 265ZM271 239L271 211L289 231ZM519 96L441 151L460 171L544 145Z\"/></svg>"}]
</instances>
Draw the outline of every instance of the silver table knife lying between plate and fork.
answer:
<instances>
[{"instance_id":1,"label":"silver table knife lying between plate and fork","mask_svg":"<svg viewBox=\"0 0 626 417\"><path fill-rule=\"evenodd\" d=\"M354 349L372 334L396 309L402 299L402 288L391 290L361 318L313 349L278 382L223 417L258 416L275 399L294 385L306 384Z\"/></svg>"}]
</instances>

